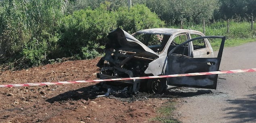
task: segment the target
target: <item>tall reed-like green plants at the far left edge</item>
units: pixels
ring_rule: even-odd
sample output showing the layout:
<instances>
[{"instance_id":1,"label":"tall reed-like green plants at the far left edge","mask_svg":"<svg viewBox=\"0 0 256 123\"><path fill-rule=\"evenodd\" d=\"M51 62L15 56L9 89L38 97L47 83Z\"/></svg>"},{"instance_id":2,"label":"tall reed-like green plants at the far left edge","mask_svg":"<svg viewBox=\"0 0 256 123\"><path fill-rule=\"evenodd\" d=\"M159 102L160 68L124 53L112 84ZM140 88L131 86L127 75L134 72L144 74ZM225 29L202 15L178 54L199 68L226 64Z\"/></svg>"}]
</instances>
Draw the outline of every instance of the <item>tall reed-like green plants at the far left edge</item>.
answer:
<instances>
[{"instance_id":1,"label":"tall reed-like green plants at the far left edge","mask_svg":"<svg viewBox=\"0 0 256 123\"><path fill-rule=\"evenodd\" d=\"M0 58L39 65L56 49L66 0L0 0ZM42 58L44 56L44 58Z\"/></svg>"}]
</instances>

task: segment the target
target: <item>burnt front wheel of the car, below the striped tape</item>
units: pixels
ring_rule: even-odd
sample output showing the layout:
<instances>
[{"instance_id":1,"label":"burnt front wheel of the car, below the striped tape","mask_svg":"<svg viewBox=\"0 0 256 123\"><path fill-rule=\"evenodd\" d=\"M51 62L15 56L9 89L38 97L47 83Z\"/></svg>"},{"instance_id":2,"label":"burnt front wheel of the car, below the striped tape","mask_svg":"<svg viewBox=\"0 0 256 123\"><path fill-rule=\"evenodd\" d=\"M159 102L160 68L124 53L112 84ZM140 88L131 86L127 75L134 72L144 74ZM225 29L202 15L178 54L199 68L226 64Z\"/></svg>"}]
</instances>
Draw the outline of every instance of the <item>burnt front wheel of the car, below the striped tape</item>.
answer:
<instances>
[{"instance_id":1,"label":"burnt front wheel of the car, below the striped tape","mask_svg":"<svg viewBox=\"0 0 256 123\"><path fill-rule=\"evenodd\" d=\"M150 79L147 88L150 93L162 94L167 89L166 79Z\"/></svg>"}]
</instances>

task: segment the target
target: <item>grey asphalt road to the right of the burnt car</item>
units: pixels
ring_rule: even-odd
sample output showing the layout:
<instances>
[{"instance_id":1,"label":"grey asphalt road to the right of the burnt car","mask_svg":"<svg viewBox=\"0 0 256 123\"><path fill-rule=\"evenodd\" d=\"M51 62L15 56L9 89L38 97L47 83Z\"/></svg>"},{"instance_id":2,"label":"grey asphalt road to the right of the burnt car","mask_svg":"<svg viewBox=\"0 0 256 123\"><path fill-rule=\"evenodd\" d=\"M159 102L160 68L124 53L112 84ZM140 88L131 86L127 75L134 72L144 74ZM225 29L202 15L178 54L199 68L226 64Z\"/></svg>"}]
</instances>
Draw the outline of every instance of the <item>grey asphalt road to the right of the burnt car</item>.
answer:
<instances>
[{"instance_id":1,"label":"grey asphalt road to the right of the burnt car","mask_svg":"<svg viewBox=\"0 0 256 123\"><path fill-rule=\"evenodd\" d=\"M220 70L256 68L256 42L224 48ZM213 93L182 97L183 123L256 123L256 72L219 75Z\"/></svg>"}]
</instances>

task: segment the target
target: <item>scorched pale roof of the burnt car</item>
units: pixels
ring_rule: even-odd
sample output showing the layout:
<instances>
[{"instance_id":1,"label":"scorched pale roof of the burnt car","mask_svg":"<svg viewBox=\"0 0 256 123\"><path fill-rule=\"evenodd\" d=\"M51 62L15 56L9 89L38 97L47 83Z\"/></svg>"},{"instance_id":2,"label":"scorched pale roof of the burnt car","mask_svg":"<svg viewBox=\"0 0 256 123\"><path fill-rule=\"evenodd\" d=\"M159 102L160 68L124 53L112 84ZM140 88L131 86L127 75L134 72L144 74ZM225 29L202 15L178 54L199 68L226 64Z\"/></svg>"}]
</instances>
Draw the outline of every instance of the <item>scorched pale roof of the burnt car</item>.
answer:
<instances>
[{"instance_id":1,"label":"scorched pale roof of the burnt car","mask_svg":"<svg viewBox=\"0 0 256 123\"><path fill-rule=\"evenodd\" d=\"M149 28L149 29L139 30L135 33L173 35L173 34L176 34L176 33L186 33L186 32L202 33L202 32L196 31L196 30L177 29L177 28Z\"/></svg>"}]
</instances>

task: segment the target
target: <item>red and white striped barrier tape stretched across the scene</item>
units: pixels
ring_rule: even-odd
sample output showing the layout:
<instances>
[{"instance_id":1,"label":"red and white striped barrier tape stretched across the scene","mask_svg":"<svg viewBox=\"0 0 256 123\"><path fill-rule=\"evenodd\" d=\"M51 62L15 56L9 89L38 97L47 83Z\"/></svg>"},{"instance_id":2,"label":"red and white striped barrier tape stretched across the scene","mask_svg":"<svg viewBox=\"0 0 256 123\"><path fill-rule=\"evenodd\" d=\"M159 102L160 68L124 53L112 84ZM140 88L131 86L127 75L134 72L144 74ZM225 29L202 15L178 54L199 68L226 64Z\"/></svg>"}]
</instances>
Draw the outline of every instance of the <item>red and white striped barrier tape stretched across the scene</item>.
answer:
<instances>
[{"instance_id":1,"label":"red and white striped barrier tape stretched across the scene","mask_svg":"<svg viewBox=\"0 0 256 123\"><path fill-rule=\"evenodd\" d=\"M244 72L256 72L256 68L255 69L243 69L243 70L230 70L230 71L211 71L211 72L200 72L200 73L184 73L184 74L174 74L174 75L160 75L160 76L149 76L149 77L130 77L130 78L117 78L117 79L96 79L96 80L85 80L85 81L62 81L62 82L52 82L52 83L47 82L47 83L8 84L8 85L0 85L0 87L25 87L25 86L43 86L43 85L62 85L62 84L73 84L73 83L93 83L93 82L136 80L136 79L187 77L187 76L228 74L228 73L244 73Z\"/></svg>"}]
</instances>

